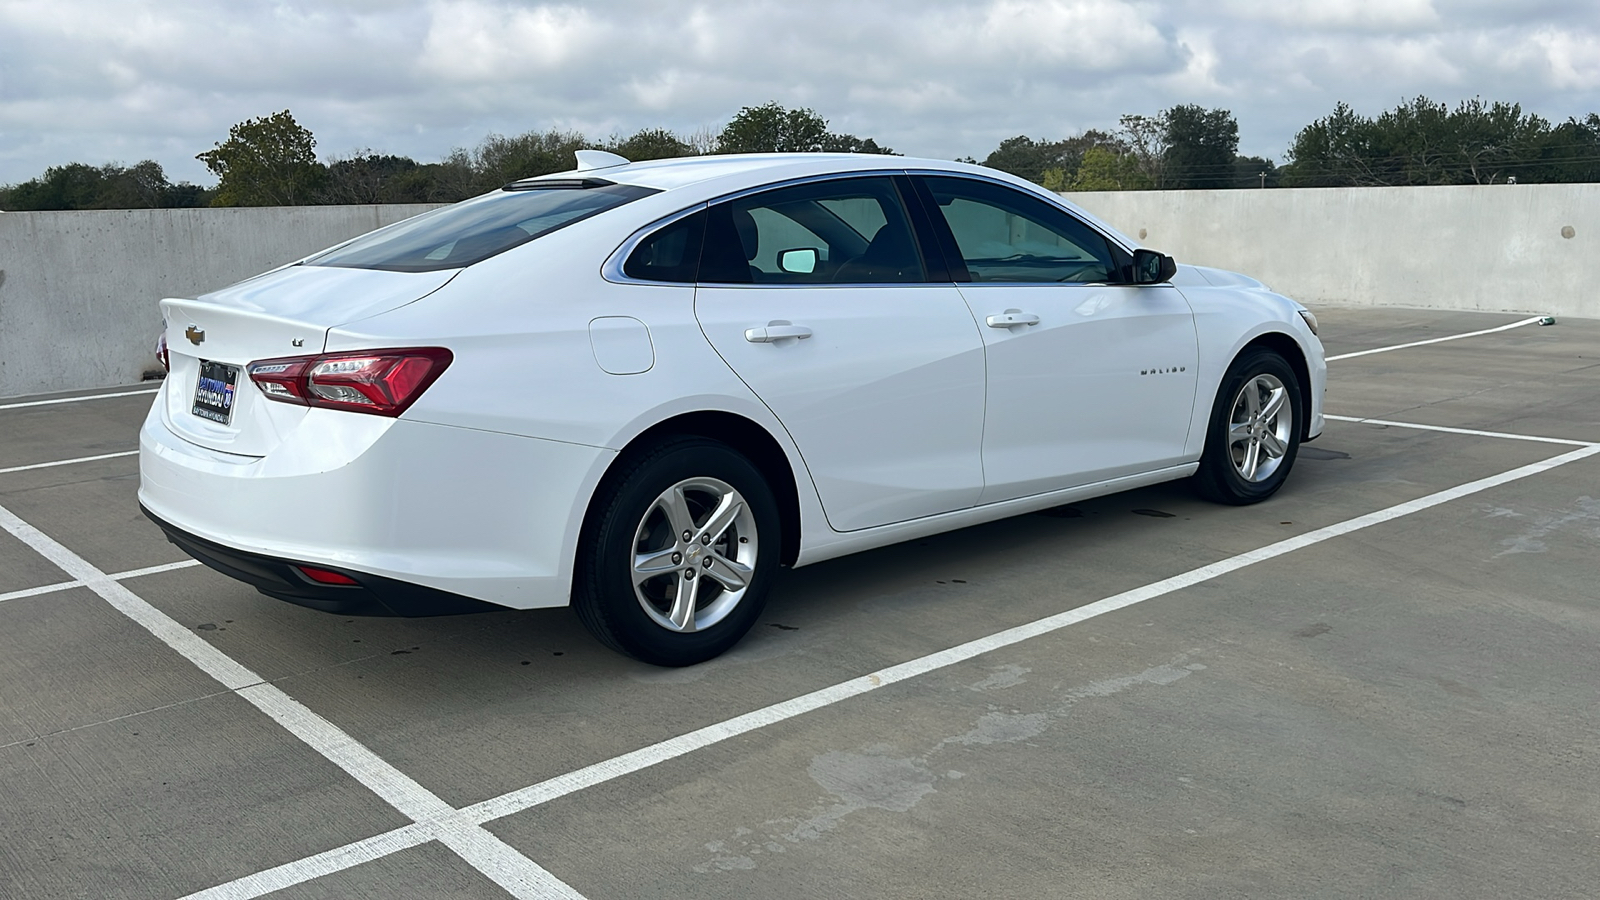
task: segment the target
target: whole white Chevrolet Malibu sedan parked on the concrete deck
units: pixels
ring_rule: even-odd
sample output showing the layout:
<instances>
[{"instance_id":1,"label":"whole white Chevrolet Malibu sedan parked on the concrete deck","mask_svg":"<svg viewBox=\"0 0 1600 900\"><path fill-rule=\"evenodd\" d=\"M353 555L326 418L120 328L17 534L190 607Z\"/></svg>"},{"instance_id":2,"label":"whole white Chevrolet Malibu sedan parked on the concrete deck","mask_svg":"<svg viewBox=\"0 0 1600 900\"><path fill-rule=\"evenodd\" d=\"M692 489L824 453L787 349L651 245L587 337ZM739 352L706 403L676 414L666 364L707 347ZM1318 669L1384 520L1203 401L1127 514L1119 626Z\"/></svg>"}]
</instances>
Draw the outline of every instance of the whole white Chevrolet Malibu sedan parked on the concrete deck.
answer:
<instances>
[{"instance_id":1,"label":"whole white Chevrolet Malibu sedan parked on the concrete deck","mask_svg":"<svg viewBox=\"0 0 1600 900\"><path fill-rule=\"evenodd\" d=\"M571 604L667 666L784 565L1253 503L1323 426L1302 306L938 160L582 151L162 314L139 501L195 559L339 613Z\"/></svg>"}]
</instances>

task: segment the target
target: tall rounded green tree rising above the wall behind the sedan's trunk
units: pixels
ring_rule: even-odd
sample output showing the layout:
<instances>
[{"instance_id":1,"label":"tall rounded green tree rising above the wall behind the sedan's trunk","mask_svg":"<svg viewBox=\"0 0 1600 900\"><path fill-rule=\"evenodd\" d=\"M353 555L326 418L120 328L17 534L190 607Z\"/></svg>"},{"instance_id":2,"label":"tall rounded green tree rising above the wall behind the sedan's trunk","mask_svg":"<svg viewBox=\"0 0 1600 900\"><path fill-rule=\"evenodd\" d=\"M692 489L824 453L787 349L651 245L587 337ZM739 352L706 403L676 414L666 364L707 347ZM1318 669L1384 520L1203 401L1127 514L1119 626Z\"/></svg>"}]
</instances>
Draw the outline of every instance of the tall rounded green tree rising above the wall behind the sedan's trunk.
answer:
<instances>
[{"instance_id":1,"label":"tall rounded green tree rising above the wall behind the sedan's trunk","mask_svg":"<svg viewBox=\"0 0 1600 900\"><path fill-rule=\"evenodd\" d=\"M218 176L213 207L293 207L310 203L326 175L317 138L290 110L234 125L227 141L197 154Z\"/></svg>"}]
</instances>

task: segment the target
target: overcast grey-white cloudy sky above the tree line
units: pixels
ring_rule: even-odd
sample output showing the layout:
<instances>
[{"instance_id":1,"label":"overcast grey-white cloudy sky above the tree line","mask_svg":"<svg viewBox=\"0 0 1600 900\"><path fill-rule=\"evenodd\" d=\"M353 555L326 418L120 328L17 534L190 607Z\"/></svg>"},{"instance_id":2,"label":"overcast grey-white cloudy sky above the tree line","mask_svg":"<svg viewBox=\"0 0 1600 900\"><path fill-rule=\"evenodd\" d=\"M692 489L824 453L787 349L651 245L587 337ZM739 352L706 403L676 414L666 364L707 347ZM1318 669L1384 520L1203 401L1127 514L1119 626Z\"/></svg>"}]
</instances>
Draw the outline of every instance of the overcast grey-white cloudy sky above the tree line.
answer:
<instances>
[{"instance_id":1,"label":"overcast grey-white cloudy sky above the tree line","mask_svg":"<svg viewBox=\"0 0 1600 900\"><path fill-rule=\"evenodd\" d=\"M0 0L0 184L141 159L210 184L194 155L282 109L323 157L434 162L773 99L939 159L1194 102L1283 162L1334 102L1416 94L1600 112L1600 0Z\"/></svg>"}]
</instances>

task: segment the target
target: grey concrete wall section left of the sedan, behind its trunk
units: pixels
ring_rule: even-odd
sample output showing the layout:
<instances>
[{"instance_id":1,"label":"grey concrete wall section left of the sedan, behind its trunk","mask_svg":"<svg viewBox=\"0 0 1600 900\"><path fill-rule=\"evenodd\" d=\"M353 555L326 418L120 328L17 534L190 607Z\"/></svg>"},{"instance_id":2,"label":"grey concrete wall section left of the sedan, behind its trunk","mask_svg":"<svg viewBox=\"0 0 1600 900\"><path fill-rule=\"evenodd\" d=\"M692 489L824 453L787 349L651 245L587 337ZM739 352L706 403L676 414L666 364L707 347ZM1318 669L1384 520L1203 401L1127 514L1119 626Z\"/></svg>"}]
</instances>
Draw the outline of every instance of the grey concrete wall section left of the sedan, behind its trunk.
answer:
<instances>
[{"instance_id":1,"label":"grey concrete wall section left of the sedan, behind its trunk","mask_svg":"<svg viewBox=\"0 0 1600 900\"><path fill-rule=\"evenodd\" d=\"M0 397L160 368L157 301L221 288L429 205L0 213Z\"/></svg>"}]
</instances>

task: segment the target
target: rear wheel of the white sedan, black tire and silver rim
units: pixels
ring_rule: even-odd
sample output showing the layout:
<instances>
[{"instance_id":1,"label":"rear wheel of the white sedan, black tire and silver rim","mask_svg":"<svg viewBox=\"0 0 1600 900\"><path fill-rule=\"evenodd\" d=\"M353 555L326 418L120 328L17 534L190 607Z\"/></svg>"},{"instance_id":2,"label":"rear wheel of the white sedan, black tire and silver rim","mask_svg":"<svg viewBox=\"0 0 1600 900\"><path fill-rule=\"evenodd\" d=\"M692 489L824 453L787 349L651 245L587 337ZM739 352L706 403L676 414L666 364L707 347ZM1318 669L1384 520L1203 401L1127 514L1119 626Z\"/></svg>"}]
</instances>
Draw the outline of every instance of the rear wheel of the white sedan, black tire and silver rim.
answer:
<instances>
[{"instance_id":1,"label":"rear wheel of the white sedan, black tire and silver rim","mask_svg":"<svg viewBox=\"0 0 1600 900\"><path fill-rule=\"evenodd\" d=\"M682 503L667 500L674 488ZM714 536L706 527L715 527L710 514L728 496L728 508L746 514L733 512ZM760 469L726 444L677 437L624 460L597 492L579 538L578 618L602 644L645 663L710 660L762 615L782 551L779 522ZM645 559L651 562L640 565ZM635 585L635 567L658 572L669 564ZM694 577L685 577L688 569ZM746 586L733 589L733 581ZM685 593L696 601L693 610L677 601Z\"/></svg>"}]
</instances>

